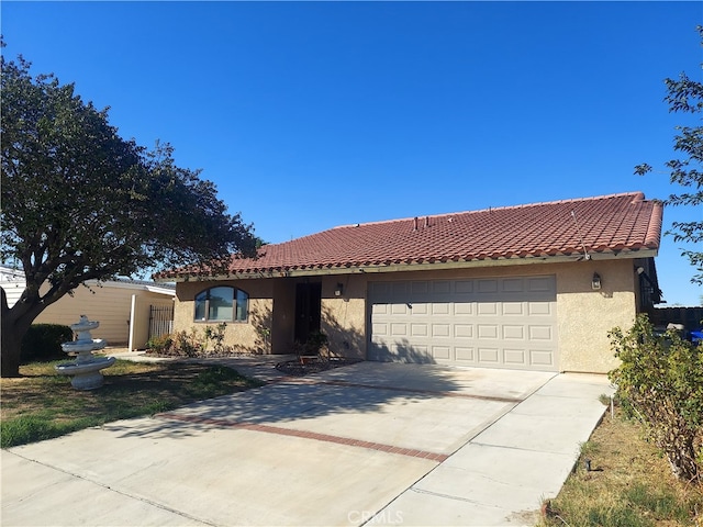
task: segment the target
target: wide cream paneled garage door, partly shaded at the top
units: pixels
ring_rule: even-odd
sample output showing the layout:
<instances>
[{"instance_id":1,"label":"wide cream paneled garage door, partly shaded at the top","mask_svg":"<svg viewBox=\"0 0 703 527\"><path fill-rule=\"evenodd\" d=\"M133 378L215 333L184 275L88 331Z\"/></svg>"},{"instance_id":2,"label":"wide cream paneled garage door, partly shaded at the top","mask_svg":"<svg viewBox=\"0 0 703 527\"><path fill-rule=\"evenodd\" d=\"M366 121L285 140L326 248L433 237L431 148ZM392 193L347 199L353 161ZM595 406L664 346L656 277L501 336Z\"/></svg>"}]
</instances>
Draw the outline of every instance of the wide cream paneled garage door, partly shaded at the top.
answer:
<instances>
[{"instance_id":1,"label":"wide cream paneled garage door, partly shaded at the top","mask_svg":"<svg viewBox=\"0 0 703 527\"><path fill-rule=\"evenodd\" d=\"M369 282L369 360L557 371L556 278Z\"/></svg>"}]
</instances>

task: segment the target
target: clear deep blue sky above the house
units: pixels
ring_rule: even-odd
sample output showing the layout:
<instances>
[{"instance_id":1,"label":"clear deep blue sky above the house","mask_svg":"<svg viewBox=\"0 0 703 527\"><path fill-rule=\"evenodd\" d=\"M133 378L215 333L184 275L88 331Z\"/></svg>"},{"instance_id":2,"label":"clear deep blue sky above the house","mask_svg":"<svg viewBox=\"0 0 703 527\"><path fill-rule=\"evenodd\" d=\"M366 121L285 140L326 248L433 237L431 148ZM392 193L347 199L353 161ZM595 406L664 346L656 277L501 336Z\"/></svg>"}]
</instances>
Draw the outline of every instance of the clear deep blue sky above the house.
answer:
<instances>
[{"instance_id":1,"label":"clear deep blue sky above the house","mask_svg":"<svg viewBox=\"0 0 703 527\"><path fill-rule=\"evenodd\" d=\"M9 58L176 148L270 243L336 225L673 188L663 79L703 2L14 2ZM648 162L659 172L634 176ZM668 208L672 221L703 212ZM669 304L703 289L680 244Z\"/></svg>"}]
</instances>

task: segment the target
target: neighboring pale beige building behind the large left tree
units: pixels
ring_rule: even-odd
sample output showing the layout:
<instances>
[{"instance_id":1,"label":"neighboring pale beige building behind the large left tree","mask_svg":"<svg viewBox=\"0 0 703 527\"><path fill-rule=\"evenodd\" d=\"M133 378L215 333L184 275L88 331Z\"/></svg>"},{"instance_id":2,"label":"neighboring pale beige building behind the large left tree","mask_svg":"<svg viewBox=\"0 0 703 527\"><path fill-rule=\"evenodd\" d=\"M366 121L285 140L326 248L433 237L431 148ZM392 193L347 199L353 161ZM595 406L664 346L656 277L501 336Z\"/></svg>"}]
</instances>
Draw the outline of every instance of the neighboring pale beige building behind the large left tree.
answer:
<instances>
[{"instance_id":1,"label":"neighboring pale beige building behind the large left tree","mask_svg":"<svg viewBox=\"0 0 703 527\"><path fill-rule=\"evenodd\" d=\"M18 269L0 267L0 287L12 307L24 290L24 273ZM63 324L69 326L78 322L80 315L100 322L100 327L91 332L94 338L103 338L108 346L130 346L143 348L149 338L152 313L170 316L161 323L170 329L176 288L169 284L141 280L87 281L44 310L34 324Z\"/></svg>"}]
</instances>

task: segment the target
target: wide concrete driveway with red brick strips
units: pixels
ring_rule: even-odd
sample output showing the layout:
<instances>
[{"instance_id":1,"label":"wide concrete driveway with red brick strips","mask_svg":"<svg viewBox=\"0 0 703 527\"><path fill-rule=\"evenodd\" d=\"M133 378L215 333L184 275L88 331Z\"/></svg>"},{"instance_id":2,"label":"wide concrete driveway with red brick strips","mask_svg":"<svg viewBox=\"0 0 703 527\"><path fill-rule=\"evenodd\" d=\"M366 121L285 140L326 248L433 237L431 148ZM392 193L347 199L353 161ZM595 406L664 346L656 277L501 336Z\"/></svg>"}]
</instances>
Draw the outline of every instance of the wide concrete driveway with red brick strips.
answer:
<instances>
[{"instance_id":1,"label":"wide concrete driveway with red brick strips","mask_svg":"<svg viewBox=\"0 0 703 527\"><path fill-rule=\"evenodd\" d=\"M361 362L2 451L2 525L533 525L601 375Z\"/></svg>"}]
</instances>

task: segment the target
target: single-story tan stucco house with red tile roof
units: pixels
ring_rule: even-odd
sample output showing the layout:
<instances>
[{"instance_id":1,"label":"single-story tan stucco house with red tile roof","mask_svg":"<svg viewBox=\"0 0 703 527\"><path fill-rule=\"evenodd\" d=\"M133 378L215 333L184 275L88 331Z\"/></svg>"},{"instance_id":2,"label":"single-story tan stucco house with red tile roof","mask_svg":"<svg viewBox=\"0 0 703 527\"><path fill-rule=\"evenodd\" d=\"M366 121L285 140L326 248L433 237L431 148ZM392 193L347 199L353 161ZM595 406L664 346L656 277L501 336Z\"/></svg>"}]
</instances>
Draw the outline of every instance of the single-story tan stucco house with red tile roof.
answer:
<instances>
[{"instance_id":1,"label":"single-story tan stucco house with red tile roof","mask_svg":"<svg viewBox=\"0 0 703 527\"><path fill-rule=\"evenodd\" d=\"M225 322L245 351L321 330L366 360L607 372L607 332L661 301L661 222L629 192L346 225L156 280L176 282L175 330Z\"/></svg>"}]
</instances>

